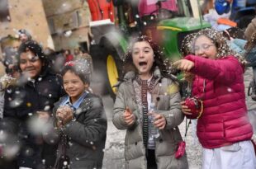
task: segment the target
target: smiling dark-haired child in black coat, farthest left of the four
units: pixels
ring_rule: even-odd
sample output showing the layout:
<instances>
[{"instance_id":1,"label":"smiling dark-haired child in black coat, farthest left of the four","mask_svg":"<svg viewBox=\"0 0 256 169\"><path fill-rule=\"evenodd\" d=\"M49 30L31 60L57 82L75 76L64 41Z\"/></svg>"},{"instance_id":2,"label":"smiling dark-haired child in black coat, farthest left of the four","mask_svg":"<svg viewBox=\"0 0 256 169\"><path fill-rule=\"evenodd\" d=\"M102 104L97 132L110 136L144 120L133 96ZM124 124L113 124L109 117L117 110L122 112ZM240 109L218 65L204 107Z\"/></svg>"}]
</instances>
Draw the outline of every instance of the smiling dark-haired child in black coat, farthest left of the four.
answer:
<instances>
[{"instance_id":1,"label":"smiling dark-haired child in black coat, farthest left of the four","mask_svg":"<svg viewBox=\"0 0 256 169\"><path fill-rule=\"evenodd\" d=\"M64 95L62 80L49 73L45 54L36 41L23 42L17 60L21 77L16 87L9 87L5 92L1 123L1 129L17 135L16 143L21 144L12 166L37 169L45 163L50 168L55 162L55 148L43 143L40 129L45 125L35 124L50 118L55 101Z\"/></svg>"}]
</instances>

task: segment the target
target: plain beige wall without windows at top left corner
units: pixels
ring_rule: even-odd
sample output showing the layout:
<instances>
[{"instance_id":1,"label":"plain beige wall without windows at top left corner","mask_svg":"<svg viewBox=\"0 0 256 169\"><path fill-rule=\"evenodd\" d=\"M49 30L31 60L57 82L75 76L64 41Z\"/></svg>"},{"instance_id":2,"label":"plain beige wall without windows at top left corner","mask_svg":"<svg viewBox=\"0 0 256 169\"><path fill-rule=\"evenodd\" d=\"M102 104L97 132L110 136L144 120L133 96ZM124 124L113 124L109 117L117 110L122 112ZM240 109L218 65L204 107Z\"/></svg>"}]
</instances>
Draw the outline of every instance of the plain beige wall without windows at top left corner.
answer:
<instances>
[{"instance_id":1,"label":"plain beige wall without windows at top left corner","mask_svg":"<svg viewBox=\"0 0 256 169\"><path fill-rule=\"evenodd\" d=\"M0 1L0 58L7 45L16 47L17 31L26 29L44 47L54 48L41 0ZM3 66L0 65L0 74Z\"/></svg>"}]
</instances>

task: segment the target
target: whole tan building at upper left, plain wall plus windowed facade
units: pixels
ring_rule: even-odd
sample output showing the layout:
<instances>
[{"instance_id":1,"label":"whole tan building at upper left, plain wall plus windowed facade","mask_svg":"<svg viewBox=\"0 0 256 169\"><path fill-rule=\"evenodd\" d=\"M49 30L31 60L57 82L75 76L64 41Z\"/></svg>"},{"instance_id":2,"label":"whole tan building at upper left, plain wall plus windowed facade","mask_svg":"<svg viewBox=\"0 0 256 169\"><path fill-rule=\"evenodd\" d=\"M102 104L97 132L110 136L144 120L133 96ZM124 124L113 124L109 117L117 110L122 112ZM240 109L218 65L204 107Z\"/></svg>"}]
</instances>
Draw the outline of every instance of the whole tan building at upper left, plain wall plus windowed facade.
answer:
<instances>
[{"instance_id":1,"label":"whole tan building at upper left, plain wall plus windowed facade","mask_svg":"<svg viewBox=\"0 0 256 169\"><path fill-rule=\"evenodd\" d=\"M29 31L44 48L88 50L90 18L85 0L1 0L0 59L5 46L19 45L16 38L20 29Z\"/></svg>"}]
</instances>

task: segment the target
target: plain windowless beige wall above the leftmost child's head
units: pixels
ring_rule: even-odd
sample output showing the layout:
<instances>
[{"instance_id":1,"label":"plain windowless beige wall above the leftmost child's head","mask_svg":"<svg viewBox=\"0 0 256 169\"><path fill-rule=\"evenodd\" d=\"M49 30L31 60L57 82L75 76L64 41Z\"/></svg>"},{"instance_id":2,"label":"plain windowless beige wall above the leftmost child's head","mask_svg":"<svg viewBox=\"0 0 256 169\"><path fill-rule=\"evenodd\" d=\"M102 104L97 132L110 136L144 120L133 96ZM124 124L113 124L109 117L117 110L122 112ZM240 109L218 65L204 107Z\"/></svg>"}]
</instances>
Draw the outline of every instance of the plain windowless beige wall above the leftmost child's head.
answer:
<instances>
[{"instance_id":1,"label":"plain windowless beige wall above the leftmost child's head","mask_svg":"<svg viewBox=\"0 0 256 169\"><path fill-rule=\"evenodd\" d=\"M41 0L8 0L10 19L0 23L0 39L15 36L20 29L29 31L34 40L53 48L50 30Z\"/></svg>"}]
</instances>

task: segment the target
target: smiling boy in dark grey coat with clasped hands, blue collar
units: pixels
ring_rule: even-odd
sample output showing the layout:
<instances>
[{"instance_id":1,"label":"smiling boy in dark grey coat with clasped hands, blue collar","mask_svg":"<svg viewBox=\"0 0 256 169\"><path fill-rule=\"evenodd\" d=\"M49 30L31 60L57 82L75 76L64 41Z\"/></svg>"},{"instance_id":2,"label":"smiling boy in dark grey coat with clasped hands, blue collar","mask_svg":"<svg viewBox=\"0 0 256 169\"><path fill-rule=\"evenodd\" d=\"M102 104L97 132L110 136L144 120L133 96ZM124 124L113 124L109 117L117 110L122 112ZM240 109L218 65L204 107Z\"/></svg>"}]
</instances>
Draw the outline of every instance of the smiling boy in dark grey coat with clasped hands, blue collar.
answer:
<instances>
[{"instance_id":1,"label":"smiling boy in dark grey coat with clasped hands, blue collar","mask_svg":"<svg viewBox=\"0 0 256 169\"><path fill-rule=\"evenodd\" d=\"M102 100L88 92L90 70L83 59L66 63L62 71L68 95L55 103L55 133L45 133L46 140L59 143L55 167L61 168L68 156L72 169L102 168L107 119Z\"/></svg>"}]
</instances>

